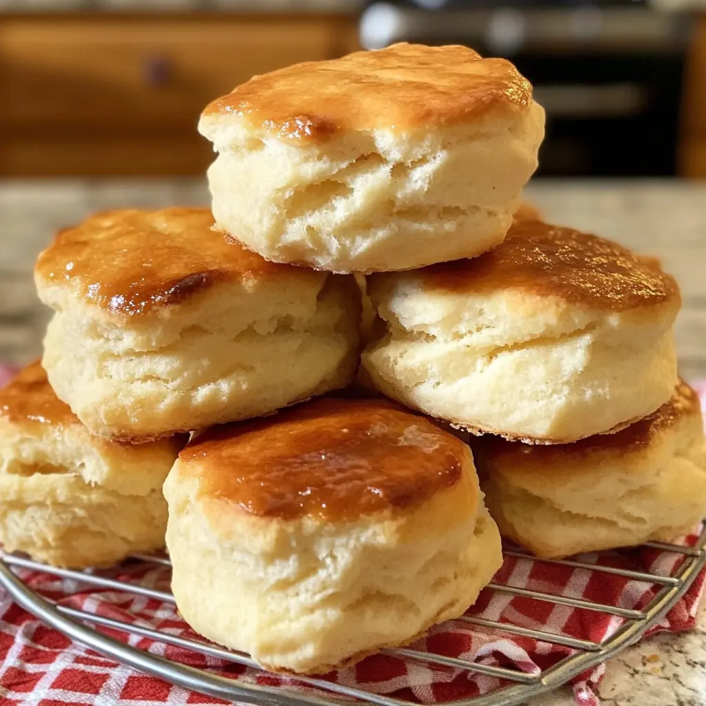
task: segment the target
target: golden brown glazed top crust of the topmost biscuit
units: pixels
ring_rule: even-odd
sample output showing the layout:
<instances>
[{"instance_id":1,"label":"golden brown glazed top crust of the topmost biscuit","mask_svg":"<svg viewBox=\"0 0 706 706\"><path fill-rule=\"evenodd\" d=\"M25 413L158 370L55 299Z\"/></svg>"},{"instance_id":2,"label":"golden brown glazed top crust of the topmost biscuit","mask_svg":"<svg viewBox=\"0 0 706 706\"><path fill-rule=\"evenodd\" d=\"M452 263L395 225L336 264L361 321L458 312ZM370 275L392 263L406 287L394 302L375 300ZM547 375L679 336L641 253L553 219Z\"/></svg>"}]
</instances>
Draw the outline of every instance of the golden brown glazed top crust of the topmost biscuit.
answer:
<instances>
[{"instance_id":1,"label":"golden brown glazed top crust of the topmost biscuit","mask_svg":"<svg viewBox=\"0 0 706 706\"><path fill-rule=\"evenodd\" d=\"M532 85L505 59L460 46L394 44L254 76L203 114L235 115L287 140L325 140L469 123L531 103Z\"/></svg>"}]
</instances>

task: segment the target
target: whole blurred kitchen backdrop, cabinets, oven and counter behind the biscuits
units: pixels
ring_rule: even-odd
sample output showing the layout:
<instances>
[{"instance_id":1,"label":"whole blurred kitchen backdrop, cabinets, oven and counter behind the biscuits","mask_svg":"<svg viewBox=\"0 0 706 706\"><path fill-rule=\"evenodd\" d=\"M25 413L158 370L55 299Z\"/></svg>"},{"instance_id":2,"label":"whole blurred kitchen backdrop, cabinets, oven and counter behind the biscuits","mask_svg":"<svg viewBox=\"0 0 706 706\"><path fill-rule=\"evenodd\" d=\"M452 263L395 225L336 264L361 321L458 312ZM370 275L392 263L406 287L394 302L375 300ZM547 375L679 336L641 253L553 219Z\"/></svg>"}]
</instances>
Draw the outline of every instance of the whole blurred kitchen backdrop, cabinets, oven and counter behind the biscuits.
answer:
<instances>
[{"instance_id":1,"label":"whole blurred kitchen backdrop, cabinets, oven and counter behind the biscuits","mask_svg":"<svg viewBox=\"0 0 706 706\"><path fill-rule=\"evenodd\" d=\"M201 109L399 41L506 56L546 108L546 217L664 258L706 377L706 0L0 0L0 361L40 351L31 268L91 210L208 203ZM701 181L705 180L705 181Z\"/></svg>"}]
</instances>

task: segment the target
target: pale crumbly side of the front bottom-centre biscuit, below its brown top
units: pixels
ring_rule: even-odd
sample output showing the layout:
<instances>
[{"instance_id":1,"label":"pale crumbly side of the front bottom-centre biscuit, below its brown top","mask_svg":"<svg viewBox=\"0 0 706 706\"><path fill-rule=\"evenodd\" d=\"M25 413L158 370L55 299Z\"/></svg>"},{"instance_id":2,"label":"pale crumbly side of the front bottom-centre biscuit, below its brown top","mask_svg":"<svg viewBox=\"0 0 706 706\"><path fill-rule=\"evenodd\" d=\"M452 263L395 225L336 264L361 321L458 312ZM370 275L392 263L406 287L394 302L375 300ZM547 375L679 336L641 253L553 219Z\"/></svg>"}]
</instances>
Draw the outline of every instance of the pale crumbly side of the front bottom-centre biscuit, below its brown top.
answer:
<instances>
[{"instance_id":1,"label":"pale crumbly side of the front bottom-centre biscuit, below its brown top","mask_svg":"<svg viewBox=\"0 0 706 706\"><path fill-rule=\"evenodd\" d=\"M199 498L177 462L164 494L179 611L275 670L324 673L407 644L460 616L502 563L482 500L464 504L470 484L475 472L397 517L281 520Z\"/></svg>"}]
</instances>

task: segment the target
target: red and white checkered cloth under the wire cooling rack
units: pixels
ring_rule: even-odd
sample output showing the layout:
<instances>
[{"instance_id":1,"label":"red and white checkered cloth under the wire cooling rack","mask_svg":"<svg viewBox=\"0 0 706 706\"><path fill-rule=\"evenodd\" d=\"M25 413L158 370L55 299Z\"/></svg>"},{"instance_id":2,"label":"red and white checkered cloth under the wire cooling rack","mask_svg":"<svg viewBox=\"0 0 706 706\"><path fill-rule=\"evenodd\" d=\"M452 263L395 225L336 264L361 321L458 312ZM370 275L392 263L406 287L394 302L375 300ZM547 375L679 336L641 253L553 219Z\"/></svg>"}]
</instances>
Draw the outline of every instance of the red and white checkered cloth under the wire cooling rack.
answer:
<instances>
[{"instance_id":1,"label":"red and white checkered cloth under the wire cooling rack","mask_svg":"<svg viewBox=\"0 0 706 706\"><path fill-rule=\"evenodd\" d=\"M701 386L700 394L706 402L706 384ZM686 542L694 541L695 535L686 539ZM654 549L607 551L586 554L582 559L589 563L660 575L673 573L678 562L682 561L676 554ZM162 567L133 564L105 573L114 578L140 580L143 585L160 590L168 589L169 572ZM82 587L72 580L61 580L40 572L25 570L22 576L32 588L47 597L58 599L66 606L196 638L179 618L172 604L115 590ZM681 601L651 633L659 630L677 632L693 626L704 579L702 573ZM651 585L636 580L626 580L606 573L593 573L587 569L553 566L534 561L532 558L506 558L496 575L496 581L630 609L645 606L655 590ZM204 599L208 600L208 596ZM604 640L623 624L623 618L616 616L604 616L595 611L539 602L490 590L481 593L479 601L469 614L594 641ZM81 647L56 630L44 626L1 592L0 616L0 706L18 703L32 706L177 706L227 703L171 686L158 678L138 674L111 659L104 659L96 652ZM126 638L122 633L112 630L106 632L119 640L128 640L134 647L213 671L214 674L248 682L286 683L288 686L297 686L296 678L265 674L146 638ZM483 664L515 666L530 674L548 668L573 652L568 647L549 645L530 638L501 636L485 628L454 621L434 628L414 647L451 657L476 659ZM604 666L601 665L575 680L573 689L578 705L598 705L592 687L603 674ZM354 667L333 672L325 678L422 704L469 698L498 686L498 679L495 677L469 676L465 671L429 666L386 655L368 657Z\"/></svg>"}]
</instances>

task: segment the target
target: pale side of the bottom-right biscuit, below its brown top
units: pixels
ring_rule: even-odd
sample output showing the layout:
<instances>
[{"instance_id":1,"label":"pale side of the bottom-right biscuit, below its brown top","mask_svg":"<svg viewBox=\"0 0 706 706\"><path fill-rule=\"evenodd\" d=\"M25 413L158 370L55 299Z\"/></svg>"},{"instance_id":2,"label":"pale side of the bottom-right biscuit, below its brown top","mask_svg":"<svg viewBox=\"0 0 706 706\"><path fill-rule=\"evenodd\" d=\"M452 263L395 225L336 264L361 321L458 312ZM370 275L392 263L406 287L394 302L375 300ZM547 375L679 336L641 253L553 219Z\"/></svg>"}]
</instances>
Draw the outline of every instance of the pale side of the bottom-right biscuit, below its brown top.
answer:
<instances>
[{"instance_id":1,"label":"pale side of the bottom-right biscuit, below its brown top","mask_svg":"<svg viewBox=\"0 0 706 706\"><path fill-rule=\"evenodd\" d=\"M706 513L700 414L660 430L640 448L608 445L564 461L536 470L491 462L483 484L503 534L539 556L669 541L693 531Z\"/></svg>"}]
</instances>

